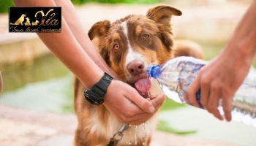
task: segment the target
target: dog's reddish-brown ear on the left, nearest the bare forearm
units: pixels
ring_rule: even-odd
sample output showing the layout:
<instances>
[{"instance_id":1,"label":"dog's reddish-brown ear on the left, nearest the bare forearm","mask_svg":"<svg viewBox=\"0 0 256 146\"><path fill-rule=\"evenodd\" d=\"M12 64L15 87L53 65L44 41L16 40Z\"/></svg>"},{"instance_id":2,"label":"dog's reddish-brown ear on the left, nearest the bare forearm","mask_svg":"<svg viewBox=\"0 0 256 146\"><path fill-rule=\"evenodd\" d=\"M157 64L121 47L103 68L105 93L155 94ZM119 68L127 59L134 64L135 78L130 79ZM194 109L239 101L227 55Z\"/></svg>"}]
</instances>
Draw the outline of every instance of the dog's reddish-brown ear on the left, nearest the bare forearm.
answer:
<instances>
[{"instance_id":1,"label":"dog's reddish-brown ear on the left, nearest the bare forearm","mask_svg":"<svg viewBox=\"0 0 256 146\"><path fill-rule=\"evenodd\" d=\"M94 39L94 37L102 37L103 35L107 34L110 25L111 24L109 20L95 23L93 26L91 26L91 29L89 30L89 38L92 40Z\"/></svg>"}]
</instances>

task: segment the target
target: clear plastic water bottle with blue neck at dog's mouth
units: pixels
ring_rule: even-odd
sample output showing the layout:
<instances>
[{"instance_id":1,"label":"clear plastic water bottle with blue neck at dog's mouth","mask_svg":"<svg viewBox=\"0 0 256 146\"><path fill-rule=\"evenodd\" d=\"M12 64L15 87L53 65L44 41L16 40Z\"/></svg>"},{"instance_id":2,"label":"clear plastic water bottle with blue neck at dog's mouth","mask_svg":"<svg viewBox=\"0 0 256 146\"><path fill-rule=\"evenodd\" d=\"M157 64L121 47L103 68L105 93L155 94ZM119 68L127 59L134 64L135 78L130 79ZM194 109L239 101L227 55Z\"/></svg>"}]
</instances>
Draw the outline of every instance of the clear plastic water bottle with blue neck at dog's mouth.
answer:
<instances>
[{"instance_id":1,"label":"clear plastic water bottle with blue neck at dog's mouth","mask_svg":"<svg viewBox=\"0 0 256 146\"><path fill-rule=\"evenodd\" d=\"M169 99L186 104L184 93L199 70L206 64L207 61L192 57L177 57L162 65L149 65L147 74L158 80L160 88ZM197 91L196 98L200 103L200 91ZM218 109L224 115L221 103L220 100ZM201 104L200 106L203 108ZM256 128L256 73L249 72L233 97L232 120Z\"/></svg>"}]
</instances>

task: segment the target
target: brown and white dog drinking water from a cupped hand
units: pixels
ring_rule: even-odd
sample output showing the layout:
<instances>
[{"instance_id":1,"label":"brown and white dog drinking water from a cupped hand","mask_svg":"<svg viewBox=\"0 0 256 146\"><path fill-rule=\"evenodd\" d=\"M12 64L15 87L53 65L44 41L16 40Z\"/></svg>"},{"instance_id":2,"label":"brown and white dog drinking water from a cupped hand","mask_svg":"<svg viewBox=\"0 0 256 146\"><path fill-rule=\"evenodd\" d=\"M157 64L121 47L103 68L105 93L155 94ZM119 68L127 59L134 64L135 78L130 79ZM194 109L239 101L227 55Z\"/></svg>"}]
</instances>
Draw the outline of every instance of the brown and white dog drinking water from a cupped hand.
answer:
<instances>
[{"instance_id":1,"label":"brown and white dog drinking water from a cupped hand","mask_svg":"<svg viewBox=\"0 0 256 146\"><path fill-rule=\"evenodd\" d=\"M146 68L149 64L162 64L175 57L178 47L174 47L170 25L173 15L181 15L181 11L160 5L149 9L146 15L128 15L113 23L109 20L95 23L89 30L89 37L91 40L97 40L94 45L108 66L121 79L133 85L146 78ZM180 55L191 54L187 53L191 49L186 45L181 46L183 49ZM192 54L202 55L200 50L195 50ZM85 88L78 79L75 79L74 85L75 113L78 116L75 145L107 145L123 123L119 123L103 104L95 106L86 101L83 97ZM152 85L150 91L154 93L155 88L156 86ZM135 140L137 145L149 145L156 125L157 117L154 116L146 124L129 126L118 145L135 145Z\"/></svg>"}]
</instances>

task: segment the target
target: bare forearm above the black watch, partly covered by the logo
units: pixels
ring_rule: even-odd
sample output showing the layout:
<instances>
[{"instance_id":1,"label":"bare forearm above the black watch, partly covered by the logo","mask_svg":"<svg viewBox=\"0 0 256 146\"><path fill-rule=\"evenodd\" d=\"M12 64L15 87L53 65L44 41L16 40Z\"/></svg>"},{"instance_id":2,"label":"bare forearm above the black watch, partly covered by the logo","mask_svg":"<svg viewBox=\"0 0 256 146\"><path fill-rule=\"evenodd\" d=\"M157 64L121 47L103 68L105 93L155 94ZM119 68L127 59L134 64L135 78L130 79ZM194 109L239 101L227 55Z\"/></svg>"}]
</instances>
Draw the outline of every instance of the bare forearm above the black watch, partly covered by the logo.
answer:
<instances>
[{"instance_id":1,"label":"bare forearm above the black watch, partly covered by the logo","mask_svg":"<svg viewBox=\"0 0 256 146\"><path fill-rule=\"evenodd\" d=\"M54 1L17 0L20 7L54 7ZM37 33L42 42L73 72L84 85L91 88L103 75L90 56L86 54L78 41L72 35L66 20L62 17L60 33Z\"/></svg>"}]
</instances>

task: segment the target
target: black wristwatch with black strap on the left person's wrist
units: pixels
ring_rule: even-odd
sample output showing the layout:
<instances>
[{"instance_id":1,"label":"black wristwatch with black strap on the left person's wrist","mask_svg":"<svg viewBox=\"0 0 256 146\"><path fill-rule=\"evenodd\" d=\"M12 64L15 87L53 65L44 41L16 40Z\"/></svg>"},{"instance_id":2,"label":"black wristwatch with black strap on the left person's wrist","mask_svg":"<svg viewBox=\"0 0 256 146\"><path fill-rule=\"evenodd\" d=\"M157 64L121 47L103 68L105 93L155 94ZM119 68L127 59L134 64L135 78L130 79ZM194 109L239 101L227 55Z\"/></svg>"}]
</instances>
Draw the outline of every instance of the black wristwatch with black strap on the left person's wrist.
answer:
<instances>
[{"instance_id":1,"label":"black wristwatch with black strap on the left person's wrist","mask_svg":"<svg viewBox=\"0 0 256 146\"><path fill-rule=\"evenodd\" d=\"M83 91L83 96L91 104L100 105L103 103L103 96L107 92L110 82L113 80L113 77L110 76L107 72L104 72L103 77L95 84L91 89L86 89Z\"/></svg>"}]
</instances>

